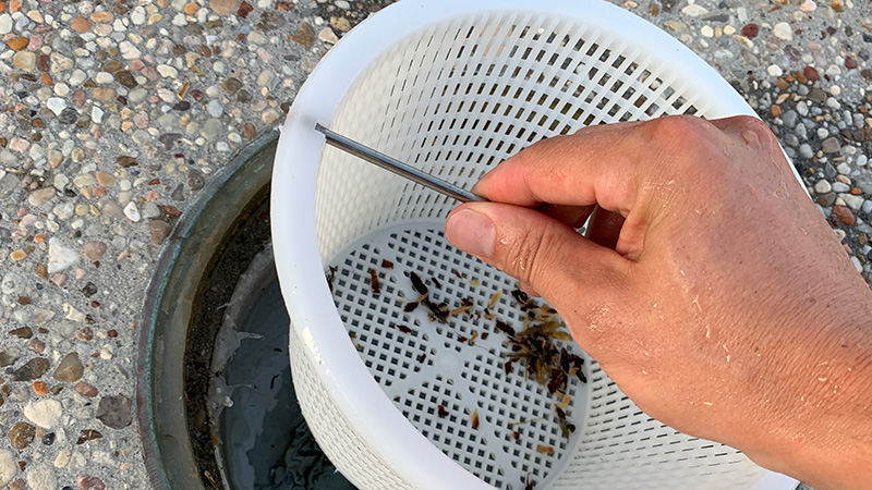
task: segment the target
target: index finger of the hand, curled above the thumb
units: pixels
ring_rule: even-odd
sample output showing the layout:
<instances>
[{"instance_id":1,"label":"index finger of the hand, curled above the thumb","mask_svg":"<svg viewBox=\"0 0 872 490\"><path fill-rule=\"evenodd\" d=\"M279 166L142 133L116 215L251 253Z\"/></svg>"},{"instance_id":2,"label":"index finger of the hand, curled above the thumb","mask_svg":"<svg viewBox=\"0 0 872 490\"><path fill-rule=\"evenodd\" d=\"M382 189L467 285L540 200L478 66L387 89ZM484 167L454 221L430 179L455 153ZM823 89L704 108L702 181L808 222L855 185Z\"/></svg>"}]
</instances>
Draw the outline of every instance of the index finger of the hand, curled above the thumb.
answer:
<instances>
[{"instance_id":1,"label":"index finger of the hand, curled above the thumb","mask_svg":"<svg viewBox=\"0 0 872 490\"><path fill-rule=\"evenodd\" d=\"M521 150L484 175L474 192L525 207L598 204L626 217L643 184L667 173L693 136L712 144L723 137L693 117L585 127Z\"/></svg>"}]
</instances>

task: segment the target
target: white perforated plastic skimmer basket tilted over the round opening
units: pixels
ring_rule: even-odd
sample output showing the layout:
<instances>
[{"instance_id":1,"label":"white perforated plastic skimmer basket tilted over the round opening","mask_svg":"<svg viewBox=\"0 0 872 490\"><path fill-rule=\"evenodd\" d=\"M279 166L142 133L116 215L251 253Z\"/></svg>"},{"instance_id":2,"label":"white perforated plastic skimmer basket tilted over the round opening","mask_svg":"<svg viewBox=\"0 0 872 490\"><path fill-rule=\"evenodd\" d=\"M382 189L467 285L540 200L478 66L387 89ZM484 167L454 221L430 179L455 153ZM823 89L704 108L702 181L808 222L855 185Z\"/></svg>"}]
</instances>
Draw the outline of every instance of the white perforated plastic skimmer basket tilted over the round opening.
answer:
<instances>
[{"instance_id":1,"label":"white perforated plastic skimmer basket tilted over the round opening","mask_svg":"<svg viewBox=\"0 0 872 490\"><path fill-rule=\"evenodd\" d=\"M296 393L318 443L353 483L795 486L731 448L651 419L571 342L564 346L586 359L588 382L571 378L568 404L523 366L506 373L506 335L494 324L520 328L524 313L509 294L517 285L446 243L457 203L325 147L314 131L320 122L469 188L541 138L679 113L753 114L683 46L594 0L403 0L324 57L282 132L272 234ZM411 272L434 303L471 298L471 311L447 324L423 307L405 311L419 296ZM560 402L574 426L568 438L555 416Z\"/></svg>"}]
</instances>

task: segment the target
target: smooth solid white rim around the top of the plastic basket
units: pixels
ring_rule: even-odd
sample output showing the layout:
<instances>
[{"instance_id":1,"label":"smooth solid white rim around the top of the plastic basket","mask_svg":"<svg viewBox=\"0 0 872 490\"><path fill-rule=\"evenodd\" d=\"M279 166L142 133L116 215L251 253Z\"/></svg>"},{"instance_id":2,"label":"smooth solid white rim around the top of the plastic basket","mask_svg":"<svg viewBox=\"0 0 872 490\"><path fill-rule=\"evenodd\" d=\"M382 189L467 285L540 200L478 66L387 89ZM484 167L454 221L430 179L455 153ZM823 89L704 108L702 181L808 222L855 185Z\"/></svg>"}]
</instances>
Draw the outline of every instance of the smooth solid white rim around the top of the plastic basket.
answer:
<instances>
[{"instance_id":1,"label":"smooth solid white rim around the top of the plastic basket","mask_svg":"<svg viewBox=\"0 0 872 490\"><path fill-rule=\"evenodd\" d=\"M337 409L377 457L415 489L493 487L419 432L373 379L352 343L338 342L348 340L348 334L327 285L315 233L315 187L324 136L314 126L330 126L339 103L359 75L397 41L427 25L496 11L595 23L633 41L634 47L638 45L655 59L668 59L676 70L687 73L697 89L705 89L708 110L723 117L755 115L726 81L690 49L655 25L603 0L402 0L370 16L324 56L298 93L276 151L270 205L276 268L292 319L290 328L303 339L307 360ZM305 278L306 287L300 287L294 278ZM556 466L552 474L559 473L559 468ZM796 480L770 474L753 489L787 490L795 485Z\"/></svg>"}]
</instances>

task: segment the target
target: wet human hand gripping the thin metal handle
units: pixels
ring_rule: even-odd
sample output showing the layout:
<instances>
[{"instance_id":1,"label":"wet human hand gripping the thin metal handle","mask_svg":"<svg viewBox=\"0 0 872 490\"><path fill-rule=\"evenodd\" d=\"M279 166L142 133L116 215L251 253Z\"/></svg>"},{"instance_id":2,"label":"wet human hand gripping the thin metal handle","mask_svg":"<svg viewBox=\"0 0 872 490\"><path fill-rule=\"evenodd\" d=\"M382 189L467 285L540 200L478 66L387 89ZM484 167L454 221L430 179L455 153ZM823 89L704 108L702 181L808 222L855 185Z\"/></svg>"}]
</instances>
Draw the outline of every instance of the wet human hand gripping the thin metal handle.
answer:
<instances>
[{"instance_id":1,"label":"wet human hand gripping the thin metal handle","mask_svg":"<svg viewBox=\"0 0 872 490\"><path fill-rule=\"evenodd\" d=\"M493 203L448 240L538 292L645 413L819 488L872 481L872 293L763 122L589 127L474 191Z\"/></svg>"}]
</instances>

